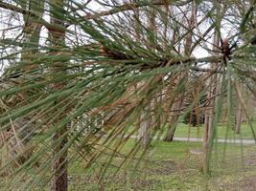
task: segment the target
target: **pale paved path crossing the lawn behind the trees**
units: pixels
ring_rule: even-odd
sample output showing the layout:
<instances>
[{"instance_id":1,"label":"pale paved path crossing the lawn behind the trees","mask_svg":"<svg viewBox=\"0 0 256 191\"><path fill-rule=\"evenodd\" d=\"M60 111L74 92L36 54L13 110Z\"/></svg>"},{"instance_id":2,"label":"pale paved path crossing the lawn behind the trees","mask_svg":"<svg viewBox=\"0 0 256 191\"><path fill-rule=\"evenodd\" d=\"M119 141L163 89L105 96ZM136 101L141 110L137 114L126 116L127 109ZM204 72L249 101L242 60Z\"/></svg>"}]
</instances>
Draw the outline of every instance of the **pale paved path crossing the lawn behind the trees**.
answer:
<instances>
[{"instance_id":1,"label":"pale paved path crossing the lawn behind the trees","mask_svg":"<svg viewBox=\"0 0 256 191\"><path fill-rule=\"evenodd\" d=\"M137 136L131 136L130 138L138 138ZM154 137L153 139L156 139ZM164 138L159 138L160 140L163 140ZM202 142L202 138L174 138L174 140L177 141L189 141L189 142ZM232 144L256 144L256 141L254 139L225 139L225 138L218 138L217 141L220 143L232 143Z\"/></svg>"}]
</instances>

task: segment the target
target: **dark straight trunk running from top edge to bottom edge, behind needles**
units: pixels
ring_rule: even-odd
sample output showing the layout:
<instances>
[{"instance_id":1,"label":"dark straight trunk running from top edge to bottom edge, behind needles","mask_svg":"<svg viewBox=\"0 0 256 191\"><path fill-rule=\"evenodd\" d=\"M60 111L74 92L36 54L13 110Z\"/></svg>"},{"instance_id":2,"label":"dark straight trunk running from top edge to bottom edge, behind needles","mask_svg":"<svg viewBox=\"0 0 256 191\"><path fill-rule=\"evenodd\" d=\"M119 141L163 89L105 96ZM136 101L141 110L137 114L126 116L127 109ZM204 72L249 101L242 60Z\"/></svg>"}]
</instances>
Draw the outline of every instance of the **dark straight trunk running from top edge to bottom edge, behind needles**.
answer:
<instances>
[{"instance_id":1,"label":"dark straight trunk running from top edge to bottom edge, behind needles","mask_svg":"<svg viewBox=\"0 0 256 191\"><path fill-rule=\"evenodd\" d=\"M64 27L64 0L53 0L51 1L51 24ZM65 31L59 30L59 31L50 31L50 40L52 47L61 48L65 44ZM63 64L63 63L60 63ZM55 65L58 65L55 63ZM52 67L52 70L55 73L63 74L64 70L59 70L59 66ZM62 89L64 87L64 83L56 83L53 84L53 89ZM65 114L59 114L59 117L55 124L59 124L59 121L61 121L61 118L64 117ZM53 165L52 165L52 171L53 171L53 180L52 180L52 190L53 191L67 191L68 189L68 179L67 179L67 150L65 149L65 145L68 141L67 139L67 127L62 126L60 127L53 137L52 141L52 149L53 149Z\"/></svg>"}]
</instances>

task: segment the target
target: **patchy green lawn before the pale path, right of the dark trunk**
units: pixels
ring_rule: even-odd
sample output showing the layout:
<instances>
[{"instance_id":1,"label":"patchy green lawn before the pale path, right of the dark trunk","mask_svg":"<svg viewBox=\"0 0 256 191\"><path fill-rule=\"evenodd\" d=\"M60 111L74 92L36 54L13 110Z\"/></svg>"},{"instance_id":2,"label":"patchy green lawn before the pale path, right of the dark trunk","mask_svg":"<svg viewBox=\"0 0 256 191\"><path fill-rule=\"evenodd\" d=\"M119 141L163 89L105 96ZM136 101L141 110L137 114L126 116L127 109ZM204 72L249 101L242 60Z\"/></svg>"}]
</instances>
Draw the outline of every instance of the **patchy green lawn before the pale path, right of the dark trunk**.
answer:
<instances>
[{"instance_id":1,"label":"patchy green lawn before the pale path, right of the dark trunk","mask_svg":"<svg viewBox=\"0 0 256 191\"><path fill-rule=\"evenodd\" d=\"M128 153L134 145L133 139L128 140L122 153ZM201 172L201 156L190 152L199 151L201 146L199 142L156 142L136 168L138 159L130 160L116 174L115 165L118 166L124 158L112 159L103 179L98 176L103 166L93 165L85 169L82 161L73 163L69 167L69 190L194 191L205 190L206 182L211 191L244 190L244 182L256 177L254 145L214 145L209 180Z\"/></svg>"}]
</instances>

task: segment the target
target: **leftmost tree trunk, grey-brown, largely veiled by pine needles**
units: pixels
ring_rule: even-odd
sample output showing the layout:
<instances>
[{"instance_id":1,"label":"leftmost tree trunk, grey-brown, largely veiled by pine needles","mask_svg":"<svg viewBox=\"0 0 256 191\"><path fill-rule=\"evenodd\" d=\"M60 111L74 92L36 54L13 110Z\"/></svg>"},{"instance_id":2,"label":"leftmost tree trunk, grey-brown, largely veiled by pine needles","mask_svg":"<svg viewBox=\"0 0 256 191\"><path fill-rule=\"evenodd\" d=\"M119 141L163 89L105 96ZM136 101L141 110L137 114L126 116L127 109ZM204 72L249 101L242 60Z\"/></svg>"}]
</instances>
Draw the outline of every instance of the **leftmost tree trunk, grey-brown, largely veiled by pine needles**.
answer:
<instances>
[{"instance_id":1,"label":"leftmost tree trunk, grey-brown, largely veiled by pine needles","mask_svg":"<svg viewBox=\"0 0 256 191\"><path fill-rule=\"evenodd\" d=\"M24 10L28 11L36 11L38 13L38 16L41 18L43 14L43 8L44 8L44 2L43 1L24 1L20 3L20 6ZM23 40L24 40L24 46L22 47L22 52L21 52L21 57L20 61L21 64L23 62L31 62L32 56L35 55L35 53L38 53L38 47L39 47L39 36L40 36L40 31L41 31L41 26L36 23L35 18L33 18L31 15L24 14L23 15L23 21L24 21L24 27L23 27ZM21 67L22 68L22 67ZM35 65L29 65L26 66L25 68L22 68L22 73L18 73L18 75L21 75L22 77L26 77L27 74L30 74L33 70L36 70L38 66ZM21 78L22 80L23 78ZM31 96L27 92L23 92L22 95L25 98L30 99ZM30 120L30 117L24 117L20 118L18 120L14 121L13 127L15 127L18 132L17 137L22 140L18 145L22 146L20 147L19 152L22 152L24 150L23 146L26 147L25 150L29 148L29 145L26 145L26 142L28 142L33 136L33 131L34 131L34 123L31 123L30 125L26 125L26 123ZM15 131L14 130L14 131ZM17 139L18 140L18 139ZM15 147L13 147L15 148ZM31 156L32 150L27 150L26 154L22 154L20 156L20 163L25 162L29 157Z\"/></svg>"}]
</instances>

